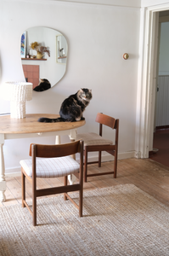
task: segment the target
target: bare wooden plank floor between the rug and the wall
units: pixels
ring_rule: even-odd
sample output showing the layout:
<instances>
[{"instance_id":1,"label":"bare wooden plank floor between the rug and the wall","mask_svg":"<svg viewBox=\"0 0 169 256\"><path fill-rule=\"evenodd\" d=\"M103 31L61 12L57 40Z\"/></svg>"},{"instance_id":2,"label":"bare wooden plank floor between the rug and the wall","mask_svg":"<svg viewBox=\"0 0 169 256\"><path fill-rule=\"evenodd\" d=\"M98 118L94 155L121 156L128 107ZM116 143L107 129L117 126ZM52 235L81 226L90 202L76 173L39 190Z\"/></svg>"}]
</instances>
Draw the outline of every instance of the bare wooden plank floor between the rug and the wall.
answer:
<instances>
[{"instance_id":1,"label":"bare wooden plank floor between the rug and the wall","mask_svg":"<svg viewBox=\"0 0 169 256\"><path fill-rule=\"evenodd\" d=\"M91 173L107 172L112 166L112 161L104 162L101 168L96 164L89 165L88 171ZM3 203L0 202L0 207L20 204L21 177L6 177L6 180L7 190L5 195L7 200ZM84 183L84 189L106 188L126 183L136 185L139 189L144 190L149 195L154 196L157 200L169 206L169 167L162 166L154 160L118 160L116 178L113 178L113 175L90 177L88 182ZM39 189L56 185L62 186L63 178L37 179L37 187ZM31 201L31 186L29 183L26 183L26 199Z\"/></svg>"}]
</instances>

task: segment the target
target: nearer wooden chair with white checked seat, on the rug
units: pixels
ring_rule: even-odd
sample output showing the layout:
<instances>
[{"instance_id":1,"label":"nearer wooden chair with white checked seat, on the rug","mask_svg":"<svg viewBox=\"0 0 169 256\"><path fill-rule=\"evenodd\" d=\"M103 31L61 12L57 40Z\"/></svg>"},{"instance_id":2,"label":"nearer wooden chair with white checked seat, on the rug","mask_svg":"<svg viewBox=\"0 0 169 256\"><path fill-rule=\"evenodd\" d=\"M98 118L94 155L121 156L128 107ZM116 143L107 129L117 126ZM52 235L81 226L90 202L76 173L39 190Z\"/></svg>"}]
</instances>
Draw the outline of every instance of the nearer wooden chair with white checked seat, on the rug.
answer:
<instances>
[{"instance_id":1,"label":"nearer wooden chair with white checked seat, on the rug","mask_svg":"<svg viewBox=\"0 0 169 256\"><path fill-rule=\"evenodd\" d=\"M70 155L80 153L80 165ZM30 160L20 160L22 177L22 207L27 207L37 225L37 197L64 193L64 199L69 199L79 210L82 217L83 191L83 142L57 145L30 145ZM41 157L42 159L37 159ZM80 171L80 172L79 172ZM67 176L79 172L79 183L68 185ZM25 177L32 184L32 210L25 201ZM37 177L65 177L64 186L49 189L37 189ZM79 206L70 198L68 192L79 191Z\"/></svg>"}]
</instances>

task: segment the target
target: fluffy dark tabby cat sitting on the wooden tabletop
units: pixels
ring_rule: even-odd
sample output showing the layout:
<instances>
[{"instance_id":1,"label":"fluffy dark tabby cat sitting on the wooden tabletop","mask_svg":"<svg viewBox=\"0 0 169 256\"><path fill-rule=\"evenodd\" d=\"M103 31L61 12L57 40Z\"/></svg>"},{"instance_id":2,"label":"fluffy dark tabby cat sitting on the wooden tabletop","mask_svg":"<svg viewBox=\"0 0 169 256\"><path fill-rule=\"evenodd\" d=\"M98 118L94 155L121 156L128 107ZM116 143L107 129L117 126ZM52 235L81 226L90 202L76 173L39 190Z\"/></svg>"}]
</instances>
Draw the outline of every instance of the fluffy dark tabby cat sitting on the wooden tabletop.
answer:
<instances>
[{"instance_id":1,"label":"fluffy dark tabby cat sitting on the wooden tabletop","mask_svg":"<svg viewBox=\"0 0 169 256\"><path fill-rule=\"evenodd\" d=\"M56 123L56 122L76 122L84 120L83 112L92 99L92 90L81 89L76 94L70 95L62 102L57 119L40 118L39 122Z\"/></svg>"}]
</instances>

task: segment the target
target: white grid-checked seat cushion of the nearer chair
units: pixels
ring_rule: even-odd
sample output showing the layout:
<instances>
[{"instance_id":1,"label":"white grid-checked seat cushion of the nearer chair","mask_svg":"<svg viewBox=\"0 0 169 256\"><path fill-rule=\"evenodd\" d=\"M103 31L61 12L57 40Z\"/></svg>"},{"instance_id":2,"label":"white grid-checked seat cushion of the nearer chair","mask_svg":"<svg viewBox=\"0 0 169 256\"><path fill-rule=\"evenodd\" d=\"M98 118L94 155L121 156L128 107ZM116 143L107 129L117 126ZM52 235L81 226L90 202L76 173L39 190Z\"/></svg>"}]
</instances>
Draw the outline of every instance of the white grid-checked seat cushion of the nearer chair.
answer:
<instances>
[{"instance_id":1,"label":"white grid-checked seat cushion of the nearer chair","mask_svg":"<svg viewBox=\"0 0 169 256\"><path fill-rule=\"evenodd\" d=\"M32 177L32 161L20 160L29 177ZM64 177L74 172L79 172L80 165L71 156L58 158L37 159L37 177Z\"/></svg>"}]
</instances>

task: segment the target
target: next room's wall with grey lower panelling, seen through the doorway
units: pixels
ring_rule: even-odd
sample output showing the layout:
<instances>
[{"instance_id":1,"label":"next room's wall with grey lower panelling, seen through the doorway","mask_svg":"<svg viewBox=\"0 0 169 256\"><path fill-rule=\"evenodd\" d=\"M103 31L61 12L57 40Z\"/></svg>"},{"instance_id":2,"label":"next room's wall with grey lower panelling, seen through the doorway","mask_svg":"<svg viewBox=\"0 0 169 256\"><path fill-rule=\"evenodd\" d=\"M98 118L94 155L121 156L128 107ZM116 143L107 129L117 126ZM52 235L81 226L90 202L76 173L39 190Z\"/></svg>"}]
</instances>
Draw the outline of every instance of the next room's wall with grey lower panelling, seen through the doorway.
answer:
<instances>
[{"instance_id":1,"label":"next room's wall with grey lower panelling, seen through the doorway","mask_svg":"<svg viewBox=\"0 0 169 256\"><path fill-rule=\"evenodd\" d=\"M169 127L169 11L159 13L155 128Z\"/></svg>"}]
</instances>

